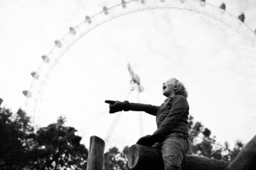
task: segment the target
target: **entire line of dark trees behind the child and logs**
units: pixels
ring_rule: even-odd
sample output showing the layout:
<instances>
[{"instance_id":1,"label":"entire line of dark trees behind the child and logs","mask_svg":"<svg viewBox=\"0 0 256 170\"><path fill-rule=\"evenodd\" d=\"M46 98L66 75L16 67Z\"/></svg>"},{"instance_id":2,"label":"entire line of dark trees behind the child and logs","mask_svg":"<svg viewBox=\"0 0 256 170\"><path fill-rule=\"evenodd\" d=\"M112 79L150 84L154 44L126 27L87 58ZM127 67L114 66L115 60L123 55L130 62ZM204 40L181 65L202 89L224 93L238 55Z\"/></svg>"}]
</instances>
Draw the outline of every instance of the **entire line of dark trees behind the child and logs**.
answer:
<instances>
[{"instance_id":1,"label":"entire line of dark trees behind the child and logs","mask_svg":"<svg viewBox=\"0 0 256 170\"><path fill-rule=\"evenodd\" d=\"M65 126L65 118L60 116L56 123L36 130L26 112L19 109L13 114L2 107L0 98L0 169L86 169L88 150L81 144L77 130ZM230 149L226 142L217 143L211 137L211 130L189 117L189 155L198 155L231 161L244 144L236 141ZM129 146L119 151L109 149L111 170L127 167Z\"/></svg>"}]
</instances>

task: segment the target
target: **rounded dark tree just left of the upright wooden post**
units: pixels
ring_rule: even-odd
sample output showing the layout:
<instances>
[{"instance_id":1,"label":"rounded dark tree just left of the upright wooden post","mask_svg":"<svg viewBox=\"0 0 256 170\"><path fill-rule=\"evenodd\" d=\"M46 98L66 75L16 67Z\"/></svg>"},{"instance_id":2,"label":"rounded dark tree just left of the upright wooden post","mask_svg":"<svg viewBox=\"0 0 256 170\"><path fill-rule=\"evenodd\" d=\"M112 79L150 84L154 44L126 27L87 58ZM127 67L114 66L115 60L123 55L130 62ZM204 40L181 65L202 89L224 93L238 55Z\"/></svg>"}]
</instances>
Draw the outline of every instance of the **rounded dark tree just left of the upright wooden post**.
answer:
<instances>
[{"instance_id":1,"label":"rounded dark tree just left of the upright wooden post","mask_svg":"<svg viewBox=\"0 0 256 170\"><path fill-rule=\"evenodd\" d=\"M65 127L65 118L36 132L33 169L86 169L88 150L80 144L77 130Z\"/></svg>"}]
</instances>

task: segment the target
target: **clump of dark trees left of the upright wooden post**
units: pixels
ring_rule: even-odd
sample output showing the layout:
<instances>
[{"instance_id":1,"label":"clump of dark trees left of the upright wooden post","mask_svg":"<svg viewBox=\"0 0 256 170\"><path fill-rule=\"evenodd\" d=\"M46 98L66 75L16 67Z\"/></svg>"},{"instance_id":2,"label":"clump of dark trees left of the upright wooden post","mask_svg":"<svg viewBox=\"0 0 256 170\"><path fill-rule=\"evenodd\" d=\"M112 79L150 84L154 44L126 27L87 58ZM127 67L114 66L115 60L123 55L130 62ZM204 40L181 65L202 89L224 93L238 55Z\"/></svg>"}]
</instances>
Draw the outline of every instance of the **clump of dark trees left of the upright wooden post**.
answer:
<instances>
[{"instance_id":1,"label":"clump of dark trees left of the upright wooden post","mask_svg":"<svg viewBox=\"0 0 256 170\"><path fill-rule=\"evenodd\" d=\"M86 169L88 150L77 130L64 126L65 118L35 133L26 112L13 114L2 102L0 98L0 169Z\"/></svg>"}]
</instances>

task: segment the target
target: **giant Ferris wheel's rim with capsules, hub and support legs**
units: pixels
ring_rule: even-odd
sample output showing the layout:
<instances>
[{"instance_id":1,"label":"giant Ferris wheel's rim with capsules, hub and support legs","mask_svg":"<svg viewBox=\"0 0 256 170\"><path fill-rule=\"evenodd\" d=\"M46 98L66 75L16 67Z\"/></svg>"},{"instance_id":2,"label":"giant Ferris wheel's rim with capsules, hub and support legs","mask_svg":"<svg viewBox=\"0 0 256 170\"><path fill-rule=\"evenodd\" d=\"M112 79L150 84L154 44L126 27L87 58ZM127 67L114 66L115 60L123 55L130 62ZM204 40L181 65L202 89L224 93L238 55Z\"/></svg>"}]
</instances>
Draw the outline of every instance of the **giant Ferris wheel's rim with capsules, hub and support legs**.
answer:
<instances>
[{"instance_id":1,"label":"giant Ferris wheel's rim with capsules, hub and support legs","mask_svg":"<svg viewBox=\"0 0 256 170\"><path fill-rule=\"evenodd\" d=\"M104 8L102 8L102 11L97 13L96 15L86 16L85 20L83 22L81 22L81 24L79 24L78 26L69 27L69 32L67 33L67 35L65 35L60 40L56 40L54 42L54 47L51 49L49 54L42 56L42 60L43 60L42 64L40 65L40 67L38 68L38 70L36 72L31 73L31 75L33 77L33 82L31 83L30 88L28 90L23 91L24 95L26 97L28 97L27 102L26 102L26 112L28 112L28 114L33 117L33 120L35 120L35 123L38 122L36 120L39 119L39 117L40 117L40 116L38 116L38 111L40 111L40 102L44 102L44 100L42 100L42 97L44 96L45 88L47 86L47 81L51 77L51 73L53 72L56 65L59 63L60 59L64 56L64 54L67 52L67 50L70 49L70 47L72 47L72 45L74 45L74 43L76 43L78 40L80 40L82 36L88 35L91 31L93 31L97 27L102 26L103 24L105 24L113 19L117 19L119 17L128 15L130 13L144 12L147 10L163 10L163 9L165 9L165 10L182 10L184 12L186 11L186 12L198 13L198 14L204 15L205 17L207 17L209 19L214 20L214 22L216 22L217 24L221 23L222 25L220 25L220 27L223 27L223 29L225 29L235 39L237 38L236 39L237 43L239 43L241 49L243 49L243 52L244 52L243 57L248 60L248 63L250 63L250 66L248 66L248 68L250 67L251 77L249 77L248 79L252 79L252 80L255 79L255 75L256 75L256 72L255 72L256 38L255 38L255 33L253 33L253 31L244 24L244 20L245 20L244 13L240 13L238 16L234 16L225 10L226 5L223 3L220 6L213 6L211 4L208 4L205 1L196 1L196 0L193 0L193 1L184 1L184 0L180 0L180 1L178 1L178 0L175 0L175 1L160 1L160 0L124 1L123 0L123 1L121 1L120 4L113 6L111 8L107 8L106 6L104 6ZM243 38L240 38L240 37L243 37ZM184 59L184 60L186 60L186 59ZM193 60L191 60L191 61L193 61ZM238 61L239 60L237 60L236 62L238 62ZM234 65L234 62L228 61L228 63L230 63L229 66L236 66L236 64L237 64L236 62ZM134 73L134 71L132 71L133 70L132 68L134 68L136 65L134 66L134 63L130 63L130 64L131 65L128 65L128 69L129 69L129 72L132 77L130 89L133 89L134 91L136 91L136 94L138 95L138 93L140 93L140 91L143 91L143 88L141 86L139 86L140 79L138 79L138 75L136 75ZM190 63L188 63L188 64L190 64ZM221 64L223 64L223 63L221 63ZM125 65L127 65L127 63L125 63ZM223 65L223 67L226 67L226 65ZM220 69L223 69L223 68L220 68ZM138 69L134 69L134 70L137 71ZM204 71L204 69L202 69L202 70ZM202 72L202 70L200 70L200 72ZM212 69L212 70L214 70L214 69ZM209 71L212 71L212 70L209 70ZM239 71L240 70L237 70L237 72L239 72ZM216 72L218 72L218 71L216 71ZM159 73L159 74L161 74L161 73ZM234 74L236 74L236 72L234 72ZM215 75L215 74L213 74L213 75ZM144 83L145 82L144 75L140 74L140 76L142 77L143 83ZM216 81L221 82L220 89L227 87L227 86L222 86L223 84L225 85L225 83L223 83L223 81L225 81L227 78L228 79L230 77L232 78L232 76L233 75L230 75L228 77L223 76L223 77L221 77L223 79L216 80ZM243 75L241 75L241 77L242 76ZM156 78L157 76L154 76L154 77ZM182 77L182 75L179 75L178 77ZM241 77L239 77L239 78L241 78ZM237 77L235 77L235 79L236 78ZM196 77L193 77L192 79L196 79ZM214 77L211 77L211 79L214 79ZM243 82L244 79L241 79L241 80L237 79L236 82L234 82L234 79L232 79L232 81L226 82L226 83L227 84L228 83L236 84L236 88L241 89L241 85L239 85L238 82ZM207 81L209 81L209 80L207 80ZM255 82L254 81L252 81L252 82L249 81L249 82L250 83L248 83L248 86L250 86L251 88L254 88ZM145 84L145 85L147 85L147 84ZM191 85L189 84L189 86L191 86ZM246 89L246 88L243 88L243 89ZM251 92L253 93L252 90L250 91L250 93ZM193 90L191 88L191 94L192 93L193 93ZM221 97L224 98L225 95L226 94L223 94L223 96L221 96ZM231 96L232 95L234 95L234 93L231 94ZM193 95L191 95L191 96L193 96ZM226 100L227 100L227 98L224 99L225 102L227 102ZM253 101L253 98L252 98L252 101ZM236 100L236 102L237 102L237 100ZM232 104L232 105L234 105L234 104ZM248 104L248 105L253 105L253 104ZM254 106L255 106L255 104L253 105L253 107ZM236 105L236 107L238 107L238 105ZM233 109L234 111L241 110L241 108L236 109L236 107L234 106L234 109ZM246 107L247 107L247 105L246 105ZM242 112L241 114L244 114L244 112ZM109 127L106 137L104 138L105 141L108 141L109 137L111 137L111 133L115 129L115 125L118 122L118 119L119 119L118 116L120 118L120 115L116 115L116 118L113 120L113 123L111 123L111 127ZM98 117L100 117L100 114L98 115ZM141 118L139 118L139 119L141 120ZM93 122L93 120L92 120L92 122ZM140 125L141 124L142 123L140 123ZM250 129L250 134L253 134L254 133L253 127L255 125L255 121L250 123L250 125L252 125L252 128ZM140 133L141 134L143 133L142 130Z\"/></svg>"}]
</instances>

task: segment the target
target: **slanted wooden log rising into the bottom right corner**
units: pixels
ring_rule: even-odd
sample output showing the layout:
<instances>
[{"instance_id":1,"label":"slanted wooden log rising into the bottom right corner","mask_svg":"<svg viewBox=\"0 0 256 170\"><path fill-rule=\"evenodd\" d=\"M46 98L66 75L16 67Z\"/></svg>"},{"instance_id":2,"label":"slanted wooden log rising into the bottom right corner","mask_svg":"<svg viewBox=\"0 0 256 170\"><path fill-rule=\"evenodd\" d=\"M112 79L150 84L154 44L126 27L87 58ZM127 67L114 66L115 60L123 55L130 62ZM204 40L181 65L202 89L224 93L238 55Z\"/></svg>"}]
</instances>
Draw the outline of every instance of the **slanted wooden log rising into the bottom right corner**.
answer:
<instances>
[{"instance_id":1,"label":"slanted wooden log rising into the bottom right corner","mask_svg":"<svg viewBox=\"0 0 256 170\"><path fill-rule=\"evenodd\" d=\"M230 162L226 170L255 170L256 169L256 135L249 141L236 158Z\"/></svg>"}]
</instances>

